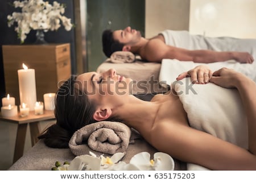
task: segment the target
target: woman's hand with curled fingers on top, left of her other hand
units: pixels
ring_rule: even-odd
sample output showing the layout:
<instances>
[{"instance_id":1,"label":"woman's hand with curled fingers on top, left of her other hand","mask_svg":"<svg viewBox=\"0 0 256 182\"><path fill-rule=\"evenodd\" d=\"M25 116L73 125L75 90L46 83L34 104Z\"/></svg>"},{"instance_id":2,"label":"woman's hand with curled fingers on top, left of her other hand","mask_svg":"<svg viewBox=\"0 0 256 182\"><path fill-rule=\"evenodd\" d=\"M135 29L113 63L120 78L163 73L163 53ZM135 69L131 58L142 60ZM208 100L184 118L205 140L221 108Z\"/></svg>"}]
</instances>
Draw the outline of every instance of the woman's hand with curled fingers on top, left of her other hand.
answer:
<instances>
[{"instance_id":1,"label":"woman's hand with curled fingers on top, left of her other hand","mask_svg":"<svg viewBox=\"0 0 256 182\"><path fill-rule=\"evenodd\" d=\"M193 84L207 84L212 78L212 71L206 65L199 65L187 72L181 73L176 80L181 80L185 77L191 77Z\"/></svg>"}]
</instances>

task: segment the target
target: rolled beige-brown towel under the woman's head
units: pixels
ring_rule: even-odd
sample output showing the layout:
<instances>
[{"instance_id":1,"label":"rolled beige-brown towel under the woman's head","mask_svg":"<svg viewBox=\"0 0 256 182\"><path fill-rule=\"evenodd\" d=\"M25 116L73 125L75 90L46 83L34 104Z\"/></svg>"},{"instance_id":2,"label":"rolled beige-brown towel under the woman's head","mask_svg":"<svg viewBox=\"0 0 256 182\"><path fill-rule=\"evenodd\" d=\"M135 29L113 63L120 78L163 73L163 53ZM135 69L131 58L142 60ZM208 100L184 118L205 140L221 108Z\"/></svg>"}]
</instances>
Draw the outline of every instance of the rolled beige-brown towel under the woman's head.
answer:
<instances>
[{"instance_id":1,"label":"rolled beige-brown towel under the woman's head","mask_svg":"<svg viewBox=\"0 0 256 182\"><path fill-rule=\"evenodd\" d=\"M131 129L121 122L100 121L77 130L69 141L75 155L97 155L125 152L129 146Z\"/></svg>"}]
</instances>

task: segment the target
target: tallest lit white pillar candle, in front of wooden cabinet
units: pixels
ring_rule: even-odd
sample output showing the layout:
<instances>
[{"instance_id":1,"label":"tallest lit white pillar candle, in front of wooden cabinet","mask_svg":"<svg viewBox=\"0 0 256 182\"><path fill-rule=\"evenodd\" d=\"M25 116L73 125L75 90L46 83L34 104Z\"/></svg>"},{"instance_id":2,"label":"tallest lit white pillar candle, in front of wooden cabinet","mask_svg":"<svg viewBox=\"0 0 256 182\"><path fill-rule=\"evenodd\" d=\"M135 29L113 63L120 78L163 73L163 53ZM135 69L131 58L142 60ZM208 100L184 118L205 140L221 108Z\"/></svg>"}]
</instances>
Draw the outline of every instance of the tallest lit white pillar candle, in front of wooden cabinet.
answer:
<instances>
[{"instance_id":1,"label":"tallest lit white pillar candle, in front of wooden cabinet","mask_svg":"<svg viewBox=\"0 0 256 182\"><path fill-rule=\"evenodd\" d=\"M18 70L20 103L26 103L30 110L34 110L36 102L35 69L27 69L24 64L23 68Z\"/></svg>"}]
</instances>

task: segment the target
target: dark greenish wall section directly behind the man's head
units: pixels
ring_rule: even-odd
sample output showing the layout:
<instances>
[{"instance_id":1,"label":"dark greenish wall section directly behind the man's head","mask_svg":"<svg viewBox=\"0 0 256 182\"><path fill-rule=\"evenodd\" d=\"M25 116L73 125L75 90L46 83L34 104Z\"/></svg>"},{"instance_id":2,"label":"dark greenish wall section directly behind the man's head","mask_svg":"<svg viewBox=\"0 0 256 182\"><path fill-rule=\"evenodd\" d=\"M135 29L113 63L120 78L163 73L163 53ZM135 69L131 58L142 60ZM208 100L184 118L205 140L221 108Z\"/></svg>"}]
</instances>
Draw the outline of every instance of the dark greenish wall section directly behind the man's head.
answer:
<instances>
[{"instance_id":1,"label":"dark greenish wall section directly behind the man's head","mask_svg":"<svg viewBox=\"0 0 256 182\"><path fill-rule=\"evenodd\" d=\"M119 30L131 26L144 34L144 0L87 0L86 46L88 71L96 71L106 60L101 35L106 29Z\"/></svg>"}]
</instances>

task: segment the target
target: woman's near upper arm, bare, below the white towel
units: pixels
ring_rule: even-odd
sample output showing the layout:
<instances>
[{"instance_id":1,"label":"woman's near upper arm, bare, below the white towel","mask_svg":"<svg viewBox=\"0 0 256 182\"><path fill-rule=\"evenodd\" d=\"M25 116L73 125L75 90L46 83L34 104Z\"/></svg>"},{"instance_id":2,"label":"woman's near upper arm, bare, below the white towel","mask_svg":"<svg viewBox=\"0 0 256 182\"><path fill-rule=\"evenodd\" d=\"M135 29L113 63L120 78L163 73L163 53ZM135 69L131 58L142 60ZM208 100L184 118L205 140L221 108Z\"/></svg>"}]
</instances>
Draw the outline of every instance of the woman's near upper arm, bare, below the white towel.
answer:
<instances>
[{"instance_id":1,"label":"woman's near upper arm, bare, below the white towel","mask_svg":"<svg viewBox=\"0 0 256 182\"><path fill-rule=\"evenodd\" d=\"M152 145L188 163L213 170L256 170L256 156L232 143L175 122L162 122Z\"/></svg>"}]
</instances>

